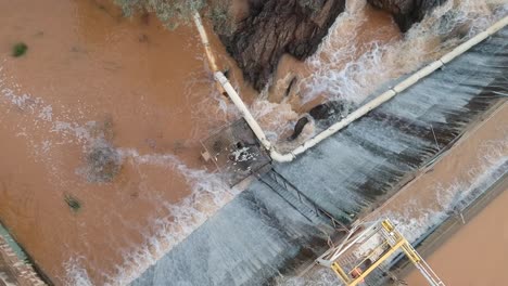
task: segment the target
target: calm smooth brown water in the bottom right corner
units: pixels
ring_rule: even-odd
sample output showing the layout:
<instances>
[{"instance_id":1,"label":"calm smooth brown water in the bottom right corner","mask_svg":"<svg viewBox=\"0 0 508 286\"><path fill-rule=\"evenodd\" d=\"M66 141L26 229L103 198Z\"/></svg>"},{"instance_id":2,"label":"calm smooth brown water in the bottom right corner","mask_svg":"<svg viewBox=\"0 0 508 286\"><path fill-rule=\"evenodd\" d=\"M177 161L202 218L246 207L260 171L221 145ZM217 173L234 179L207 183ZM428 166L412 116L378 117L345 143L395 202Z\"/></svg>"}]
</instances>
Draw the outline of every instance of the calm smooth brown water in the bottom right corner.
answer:
<instances>
[{"instance_id":1,"label":"calm smooth brown water in the bottom right corner","mask_svg":"<svg viewBox=\"0 0 508 286\"><path fill-rule=\"evenodd\" d=\"M503 194L427 259L446 285L503 286L508 281L508 184ZM409 286L426 286L417 271Z\"/></svg>"}]
</instances>

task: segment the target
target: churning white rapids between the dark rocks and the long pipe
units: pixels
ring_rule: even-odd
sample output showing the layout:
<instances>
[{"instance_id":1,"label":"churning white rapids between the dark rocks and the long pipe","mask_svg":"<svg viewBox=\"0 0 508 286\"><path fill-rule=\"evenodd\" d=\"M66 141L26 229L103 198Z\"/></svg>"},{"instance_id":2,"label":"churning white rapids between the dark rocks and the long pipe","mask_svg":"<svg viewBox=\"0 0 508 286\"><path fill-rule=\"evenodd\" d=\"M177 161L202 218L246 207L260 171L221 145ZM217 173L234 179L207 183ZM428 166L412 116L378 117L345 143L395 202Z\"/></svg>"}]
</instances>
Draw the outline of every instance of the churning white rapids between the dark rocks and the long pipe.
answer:
<instances>
[{"instance_id":1,"label":"churning white rapids between the dark rocks and the long pipe","mask_svg":"<svg viewBox=\"0 0 508 286\"><path fill-rule=\"evenodd\" d=\"M348 4L318 52L307 60L314 73L302 81L304 102L325 96L360 103L382 84L437 58L504 15L500 10L494 13L487 0L448 1L414 25L404 38L385 44L373 41L370 50L354 58L358 48L344 41L352 41L365 22L365 1L350 2L355 4ZM456 30L463 27L467 36L460 37L463 35ZM450 37L452 34L457 37Z\"/></svg>"}]
</instances>

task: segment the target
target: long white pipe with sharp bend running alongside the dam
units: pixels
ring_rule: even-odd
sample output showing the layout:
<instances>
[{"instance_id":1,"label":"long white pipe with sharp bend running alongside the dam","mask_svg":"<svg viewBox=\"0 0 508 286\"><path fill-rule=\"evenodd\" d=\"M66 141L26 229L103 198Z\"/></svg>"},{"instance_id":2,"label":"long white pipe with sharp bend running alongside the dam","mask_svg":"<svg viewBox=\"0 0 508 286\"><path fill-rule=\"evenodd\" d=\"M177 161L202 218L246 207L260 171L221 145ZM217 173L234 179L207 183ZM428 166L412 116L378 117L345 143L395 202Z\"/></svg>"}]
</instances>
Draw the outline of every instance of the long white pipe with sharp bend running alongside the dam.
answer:
<instances>
[{"instance_id":1,"label":"long white pipe with sharp bend running alongside the dam","mask_svg":"<svg viewBox=\"0 0 508 286\"><path fill-rule=\"evenodd\" d=\"M245 118L246 122L253 130L254 134L257 136L259 142L263 144L263 146L270 152L270 157L275 161L279 162L287 162L287 161L292 161L293 159L296 158L300 154L306 152L307 150L316 146L319 142L323 141L325 139L335 134L339 130L343 129L344 127L348 126L351 122L355 121L356 119L363 117L370 110L377 108L381 104L390 101L393 99L395 95L399 94L404 90L412 87L415 83L417 83L420 79L426 78L427 76L431 75L445 64L452 62L455 60L457 56L461 55L462 53L467 52L469 49L472 47L479 44L480 42L484 41L486 38L490 36L494 35L501 28L508 26L508 16L504 17L496 24L492 25L490 28L487 28L485 31L480 32L479 35L474 36L467 42L460 44L459 47L455 48L452 52L447 53L446 55L442 56L440 60L427 65L426 67L421 68L407 79L403 80L399 82L397 86L394 88L385 91L384 93L380 94L376 99L371 100L370 102L366 103L358 109L354 110L350 115L347 115L344 119L341 121L332 125L329 127L327 130L322 131L321 133L317 134L316 136L305 141L303 144L294 148L293 151L281 154L279 153L275 146L271 145L271 143L267 140L265 132L263 129L259 127L257 121L254 119L252 116L251 112L249 108L245 106L243 101L240 99L238 95L237 91L232 88L231 83L228 81L228 79L223 75L220 72L215 73L215 79L220 83L220 86L226 90L228 93L229 98L231 101L234 103L234 105L240 109L240 112L243 115L243 118ZM202 28L202 26L201 26ZM202 40L203 43L207 43L207 38L206 34L203 34L200 30L200 35L202 35ZM204 35L204 38L203 38ZM207 47L207 46L205 46ZM212 55L213 56L213 55Z\"/></svg>"}]
</instances>

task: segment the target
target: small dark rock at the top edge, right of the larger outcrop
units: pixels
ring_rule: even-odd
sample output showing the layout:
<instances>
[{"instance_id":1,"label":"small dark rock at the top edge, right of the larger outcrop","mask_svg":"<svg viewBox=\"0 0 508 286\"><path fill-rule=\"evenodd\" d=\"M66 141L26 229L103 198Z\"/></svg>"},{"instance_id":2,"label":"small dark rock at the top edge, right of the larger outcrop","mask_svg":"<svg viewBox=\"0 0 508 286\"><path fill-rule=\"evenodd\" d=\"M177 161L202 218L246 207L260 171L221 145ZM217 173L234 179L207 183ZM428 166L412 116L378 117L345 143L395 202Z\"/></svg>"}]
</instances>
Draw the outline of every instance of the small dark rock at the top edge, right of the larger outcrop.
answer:
<instances>
[{"instance_id":1,"label":"small dark rock at the top edge, right of the larger outcrop","mask_svg":"<svg viewBox=\"0 0 508 286\"><path fill-rule=\"evenodd\" d=\"M423 20L427 13L446 0L367 0L371 5L390 12L403 32Z\"/></svg>"}]
</instances>

